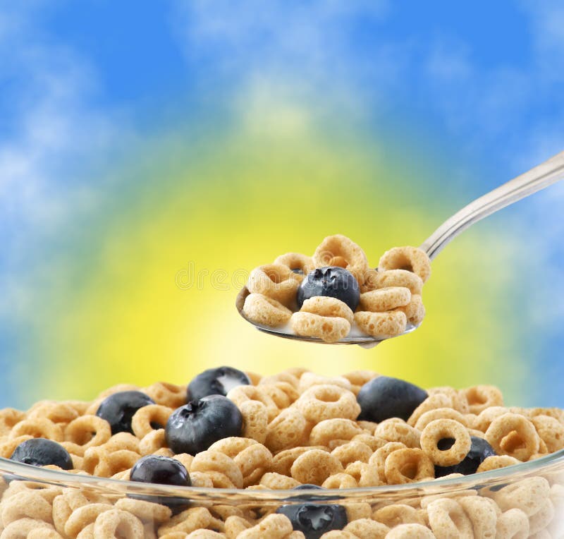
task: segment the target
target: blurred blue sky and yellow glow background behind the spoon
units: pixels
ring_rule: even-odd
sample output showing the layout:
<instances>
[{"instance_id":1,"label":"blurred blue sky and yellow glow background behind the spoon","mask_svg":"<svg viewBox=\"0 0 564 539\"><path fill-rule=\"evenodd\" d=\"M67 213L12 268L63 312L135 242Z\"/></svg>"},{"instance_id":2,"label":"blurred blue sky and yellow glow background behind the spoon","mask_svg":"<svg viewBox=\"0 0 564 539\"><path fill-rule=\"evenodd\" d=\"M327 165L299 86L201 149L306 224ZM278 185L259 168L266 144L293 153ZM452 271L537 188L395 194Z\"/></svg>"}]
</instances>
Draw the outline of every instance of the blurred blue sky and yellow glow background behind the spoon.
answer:
<instances>
[{"instance_id":1,"label":"blurred blue sky and yellow glow background behind the spoon","mask_svg":"<svg viewBox=\"0 0 564 539\"><path fill-rule=\"evenodd\" d=\"M0 6L0 406L222 364L564 406L564 185L448 246L422 327L376 349L234 306L281 253L342 233L377 265L563 150L560 2Z\"/></svg>"}]
</instances>

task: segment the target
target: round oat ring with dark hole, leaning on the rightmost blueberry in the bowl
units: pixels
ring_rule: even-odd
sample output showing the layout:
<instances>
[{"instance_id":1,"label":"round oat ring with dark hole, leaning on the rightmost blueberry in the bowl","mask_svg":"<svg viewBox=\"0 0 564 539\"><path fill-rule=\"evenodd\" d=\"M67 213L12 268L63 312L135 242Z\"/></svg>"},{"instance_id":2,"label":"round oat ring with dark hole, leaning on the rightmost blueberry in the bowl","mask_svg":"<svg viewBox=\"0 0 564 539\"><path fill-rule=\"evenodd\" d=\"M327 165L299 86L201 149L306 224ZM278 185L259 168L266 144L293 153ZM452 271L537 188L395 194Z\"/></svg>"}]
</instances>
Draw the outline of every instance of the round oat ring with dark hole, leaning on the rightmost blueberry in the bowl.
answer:
<instances>
[{"instance_id":1,"label":"round oat ring with dark hole, leaning on the rightmost blueberry in the bowl","mask_svg":"<svg viewBox=\"0 0 564 539\"><path fill-rule=\"evenodd\" d=\"M441 450L438 444L445 438L454 440L449 449ZM421 432L421 449L436 466L454 466L461 462L470 451L472 440L467 429L453 419L431 421Z\"/></svg>"}]
</instances>

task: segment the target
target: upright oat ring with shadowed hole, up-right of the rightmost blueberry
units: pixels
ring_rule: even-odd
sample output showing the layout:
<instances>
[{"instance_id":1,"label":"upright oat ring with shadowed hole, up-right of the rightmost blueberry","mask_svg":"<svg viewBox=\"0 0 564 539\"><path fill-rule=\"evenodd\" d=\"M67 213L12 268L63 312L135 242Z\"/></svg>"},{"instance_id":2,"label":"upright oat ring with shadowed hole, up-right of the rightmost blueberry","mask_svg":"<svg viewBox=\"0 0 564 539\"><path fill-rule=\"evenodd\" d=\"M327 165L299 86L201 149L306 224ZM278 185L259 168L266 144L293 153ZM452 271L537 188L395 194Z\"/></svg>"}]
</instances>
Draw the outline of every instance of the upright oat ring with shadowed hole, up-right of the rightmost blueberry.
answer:
<instances>
[{"instance_id":1,"label":"upright oat ring with shadowed hole, up-right of the rightmost blueberry","mask_svg":"<svg viewBox=\"0 0 564 539\"><path fill-rule=\"evenodd\" d=\"M515 432L515 435L510 435ZM540 438L534 425L524 416L505 413L494 419L486 430L486 440L496 454L515 456L526 461L539 452Z\"/></svg>"}]
</instances>

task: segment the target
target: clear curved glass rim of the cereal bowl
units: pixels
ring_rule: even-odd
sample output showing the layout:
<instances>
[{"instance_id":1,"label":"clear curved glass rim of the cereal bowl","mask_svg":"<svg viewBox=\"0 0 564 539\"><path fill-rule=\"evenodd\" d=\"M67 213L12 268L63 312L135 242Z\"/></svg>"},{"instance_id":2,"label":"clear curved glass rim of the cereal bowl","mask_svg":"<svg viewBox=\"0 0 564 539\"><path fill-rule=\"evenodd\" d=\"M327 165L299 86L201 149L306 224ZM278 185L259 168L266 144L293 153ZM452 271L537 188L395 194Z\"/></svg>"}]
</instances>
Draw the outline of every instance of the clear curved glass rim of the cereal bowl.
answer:
<instances>
[{"instance_id":1,"label":"clear curved glass rim of the cereal bowl","mask_svg":"<svg viewBox=\"0 0 564 539\"><path fill-rule=\"evenodd\" d=\"M494 486L504 483L508 478L516 476L531 476L539 471L551 471L558 464L564 463L564 449L558 452L541 456L539 459L527 461L505 468L474 473L470 476L455 478L439 478L419 483L405 483L403 485L379 485L376 487L355 487L343 489L300 489L300 490L274 490L274 489L244 489L244 488L216 488L216 487L176 487L171 485L158 485L154 483L139 483L130 480L102 478L90 476L87 473L70 473L52 468L39 468L30 464L23 464L0 457L0 474L13 474L11 480L25 480L37 483L47 483L54 486L65 487L92 487L96 490L105 490L111 494L135 492L140 494L158 495L183 495L186 497L205 497L226 499L235 497L238 502L281 501L283 499L300 499L315 497L316 499L353 499L361 497L402 495L432 495L445 493L445 491L465 490L476 487Z\"/></svg>"}]
</instances>

